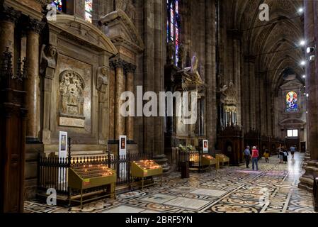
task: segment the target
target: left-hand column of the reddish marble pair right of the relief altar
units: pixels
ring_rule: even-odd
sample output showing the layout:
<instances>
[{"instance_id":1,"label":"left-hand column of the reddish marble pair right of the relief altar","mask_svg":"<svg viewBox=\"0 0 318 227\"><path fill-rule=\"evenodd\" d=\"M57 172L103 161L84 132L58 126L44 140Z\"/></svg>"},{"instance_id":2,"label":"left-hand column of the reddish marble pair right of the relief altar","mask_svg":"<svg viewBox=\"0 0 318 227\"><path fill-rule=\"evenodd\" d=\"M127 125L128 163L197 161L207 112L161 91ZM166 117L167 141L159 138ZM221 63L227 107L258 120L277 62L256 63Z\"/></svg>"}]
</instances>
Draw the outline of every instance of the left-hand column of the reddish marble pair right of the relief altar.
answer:
<instances>
[{"instance_id":1,"label":"left-hand column of the reddish marble pair right of the relief altar","mask_svg":"<svg viewBox=\"0 0 318 227\"><path fill-rule=\"evenodd\" d=\"M120 135L125 134L125 118L120 114L120 106L123 101L120 100L120 96L125 92L125 74L124 74L124 62L123 60L115 60L115 140L119 140Z\"/></svg>"}]
</instances>

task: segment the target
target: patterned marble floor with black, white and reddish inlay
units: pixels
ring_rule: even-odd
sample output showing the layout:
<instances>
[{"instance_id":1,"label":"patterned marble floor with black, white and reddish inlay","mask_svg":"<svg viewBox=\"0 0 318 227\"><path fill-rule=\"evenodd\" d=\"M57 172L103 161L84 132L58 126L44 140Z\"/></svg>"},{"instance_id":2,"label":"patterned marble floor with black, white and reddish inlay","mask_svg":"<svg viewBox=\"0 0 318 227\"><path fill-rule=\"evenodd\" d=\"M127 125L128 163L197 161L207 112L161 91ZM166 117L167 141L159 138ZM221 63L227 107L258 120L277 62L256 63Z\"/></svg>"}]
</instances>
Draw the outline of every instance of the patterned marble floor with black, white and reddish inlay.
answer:
<instances>
[{"instance_id":1,"label":"patterned marble floor with black, white and reddish inlay","mask_svg":"<svg viewBox=\"0 0 318 227\"><path fill-rule=\"evenodd\" d=\"M25 201L25 212L37 213L314 213L312 194L297 188L302 174L303 155L288 157L279 164L276 156L270 163L259 162L259 171L240 167L222 167L210 172L191 172L181 179L179 172L164 177L162 187L118 194L64 208L36 201Z\"/></svg>"}]
</instances>

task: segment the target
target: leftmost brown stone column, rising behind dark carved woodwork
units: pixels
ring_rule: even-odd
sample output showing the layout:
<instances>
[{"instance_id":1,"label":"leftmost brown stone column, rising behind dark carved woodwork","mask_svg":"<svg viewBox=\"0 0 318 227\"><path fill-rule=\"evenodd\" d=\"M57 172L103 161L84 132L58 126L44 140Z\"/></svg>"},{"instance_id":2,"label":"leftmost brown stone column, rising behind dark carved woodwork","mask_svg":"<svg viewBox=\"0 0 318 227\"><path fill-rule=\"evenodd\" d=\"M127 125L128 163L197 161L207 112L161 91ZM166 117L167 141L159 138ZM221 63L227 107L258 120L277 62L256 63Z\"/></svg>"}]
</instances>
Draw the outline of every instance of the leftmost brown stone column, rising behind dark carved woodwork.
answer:
<instances>
[{"instance_id":1,"label":"leftmost brown stone column, rising behind dark carved woodwork","mask_svg":"<svg viewBox=\"0 0 318 227\"><path fill-rule=\"evenodd\" d=\"M8 47L8 51L12 53L13 71L16 68L14 65L14 28L19 16L20 13L18 11L7 6L4 6L0 11L0 59Z\"/></svg>"}]
</instances>

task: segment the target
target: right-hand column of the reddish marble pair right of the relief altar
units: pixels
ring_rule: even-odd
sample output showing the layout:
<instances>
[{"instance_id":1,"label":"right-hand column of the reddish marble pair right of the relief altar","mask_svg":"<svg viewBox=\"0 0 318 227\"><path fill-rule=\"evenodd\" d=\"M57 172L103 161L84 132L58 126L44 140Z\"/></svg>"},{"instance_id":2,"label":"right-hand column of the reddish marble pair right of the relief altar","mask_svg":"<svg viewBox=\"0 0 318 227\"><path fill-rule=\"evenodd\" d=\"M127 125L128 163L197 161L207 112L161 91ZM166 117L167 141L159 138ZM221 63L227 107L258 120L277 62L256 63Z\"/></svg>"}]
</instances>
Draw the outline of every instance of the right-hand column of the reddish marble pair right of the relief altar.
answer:
<instances>
[{"instance_id":1,"label":"right-hand column of the reddish marble pair right of the relief altar","mask_svg":"<svg viewBox=\"0 0 318 227\"><path fill-rule=\"evenodd\" d=\"M134 72L135 65L127 65L126 67L126 91L134 93ZM125 119L125 131L127 140L134 140L134 117L128 116Z\"/></svg>"}]
</instances>

